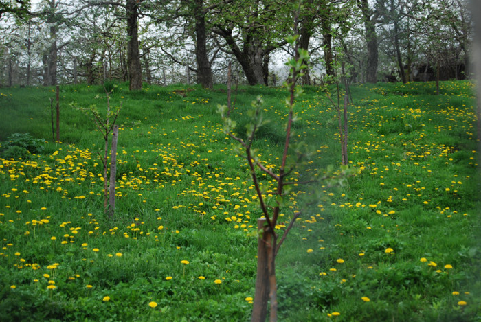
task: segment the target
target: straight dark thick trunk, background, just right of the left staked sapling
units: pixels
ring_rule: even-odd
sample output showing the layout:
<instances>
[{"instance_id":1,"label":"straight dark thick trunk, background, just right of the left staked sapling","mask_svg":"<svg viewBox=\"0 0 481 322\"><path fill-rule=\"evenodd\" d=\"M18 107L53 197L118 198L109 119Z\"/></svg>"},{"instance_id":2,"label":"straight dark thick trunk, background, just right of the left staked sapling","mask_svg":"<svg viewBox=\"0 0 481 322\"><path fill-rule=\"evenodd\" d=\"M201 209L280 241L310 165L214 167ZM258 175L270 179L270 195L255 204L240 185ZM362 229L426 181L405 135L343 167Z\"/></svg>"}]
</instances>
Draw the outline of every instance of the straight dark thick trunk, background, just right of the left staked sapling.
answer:
<instances>
[{"instance_id":1,"label":"straight dark thick trunk, background, just right of the left staked sapling","mask_svg":"<svg viewBox=\"0 0 481 322\"><path fill-rule=\"evenodd\" d=\"M139 52L139 25L138 25L138 5L142 1L127 0L126 16L127 16L127 67L128 80L130 81L129 89L142 89L142 65L140 63Z\"/></svg>"}]
</instances>

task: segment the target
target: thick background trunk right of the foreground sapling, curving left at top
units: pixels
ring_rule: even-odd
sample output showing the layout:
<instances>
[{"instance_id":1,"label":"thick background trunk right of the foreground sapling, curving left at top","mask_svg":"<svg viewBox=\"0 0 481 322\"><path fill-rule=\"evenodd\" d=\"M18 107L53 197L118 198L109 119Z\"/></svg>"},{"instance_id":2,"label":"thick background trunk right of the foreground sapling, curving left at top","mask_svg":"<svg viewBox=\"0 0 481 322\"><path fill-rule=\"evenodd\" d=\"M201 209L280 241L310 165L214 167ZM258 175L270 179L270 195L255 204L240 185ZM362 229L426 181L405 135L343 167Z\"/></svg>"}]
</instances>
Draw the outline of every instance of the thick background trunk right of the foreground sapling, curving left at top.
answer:
<instances>
[{"instance_id":1,"label":"thick background trunk right of the foreground sapling, curving left at top","mask_svg":"<svg viewBox=\"0 0 481 322\"><path fill-rule=\"evenodd\" d=\"M371 19L371 13L369 9L368 0L357 0L357 4L361 9L364 19L364 29L366 31L366 42L368 49L368 61L366 67L366 80L367 82L377 82L377 62L378 62L378 47L377 47L377 34L374 21Z\"/></svg>"}]
</instances>

